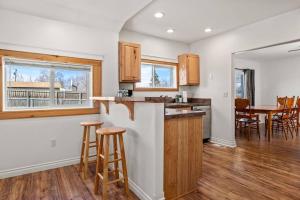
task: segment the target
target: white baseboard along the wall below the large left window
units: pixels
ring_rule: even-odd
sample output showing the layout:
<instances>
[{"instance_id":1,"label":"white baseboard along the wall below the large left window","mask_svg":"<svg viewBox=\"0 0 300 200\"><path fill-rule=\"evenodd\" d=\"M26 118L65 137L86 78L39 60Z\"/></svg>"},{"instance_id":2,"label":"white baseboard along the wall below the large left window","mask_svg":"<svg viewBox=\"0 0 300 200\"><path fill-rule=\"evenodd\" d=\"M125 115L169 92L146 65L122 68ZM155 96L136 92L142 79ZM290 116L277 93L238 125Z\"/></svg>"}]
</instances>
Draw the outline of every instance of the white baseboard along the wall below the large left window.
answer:
<instances>
[{"instance_id":1,"label":"white baseboard along the wall below the large left window","mask_svg":"<svg viewBox=\"0 0 300 200\"><path fill-rule=\"evenodd\" d=\"M0 179L78 164L79 157L0 171Z\"/></svg>"}]
</instances>

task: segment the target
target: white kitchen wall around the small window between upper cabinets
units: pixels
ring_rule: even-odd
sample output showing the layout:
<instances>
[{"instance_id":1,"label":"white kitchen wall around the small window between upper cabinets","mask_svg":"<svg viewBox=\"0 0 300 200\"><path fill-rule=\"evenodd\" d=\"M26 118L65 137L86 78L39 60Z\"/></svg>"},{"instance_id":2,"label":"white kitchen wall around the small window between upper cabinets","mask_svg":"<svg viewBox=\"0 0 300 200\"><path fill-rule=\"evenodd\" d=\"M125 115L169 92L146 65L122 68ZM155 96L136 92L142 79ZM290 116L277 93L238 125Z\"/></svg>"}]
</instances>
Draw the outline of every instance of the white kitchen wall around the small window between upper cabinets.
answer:
<instances>
[{"instance_id":1,"label":"white kitchen wall around the small window between upper cabinets","mask_svg":"<svg viewBox=\"0 0 300 200\"><path fill-rule=\"evenodd\" d=\"M150 35L145 35L133 31L122 30L120 32L120 41L133 42L141 44L142 58L154 59L170 62L178 62L177 57L180 54L188 53L190 47L188 44L166 40ZM132 84L122 84L127 88L132 88ZM180 87L180 90L190 91L190 87ZM178 92L134 92L134 96L175 96Z\"/></svg>"}]
</instances>

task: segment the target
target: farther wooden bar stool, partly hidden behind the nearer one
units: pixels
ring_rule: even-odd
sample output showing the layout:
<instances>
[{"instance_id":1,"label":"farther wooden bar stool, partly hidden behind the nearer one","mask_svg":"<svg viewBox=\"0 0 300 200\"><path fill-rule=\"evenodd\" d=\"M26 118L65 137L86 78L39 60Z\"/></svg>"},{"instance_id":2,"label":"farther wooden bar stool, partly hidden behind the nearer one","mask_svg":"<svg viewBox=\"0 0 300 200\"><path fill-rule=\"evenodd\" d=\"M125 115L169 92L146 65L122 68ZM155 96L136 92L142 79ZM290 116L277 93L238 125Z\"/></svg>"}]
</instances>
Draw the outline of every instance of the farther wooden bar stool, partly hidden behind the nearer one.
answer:
<instances>
[{"instance_id":1,"label":"farther wooden bar stool, partly hidden behind the nearer one","mask_svg":"<svg viewBox=\"0 0 300 200\"><path fill-rule=\"evenodd\" d=\"M103 122L99 122L99 121L80 123L80 125L83 126L83 137L82 137L79 172L82 173L84 179L87 178L89 158L96 156L96 155L89 155L90 148L97 149L96 141L90 141L90 129L91 127L95 127L95 135L97 138L96 130L101 128L102 124Z\"/></svg>"}]
</instances>

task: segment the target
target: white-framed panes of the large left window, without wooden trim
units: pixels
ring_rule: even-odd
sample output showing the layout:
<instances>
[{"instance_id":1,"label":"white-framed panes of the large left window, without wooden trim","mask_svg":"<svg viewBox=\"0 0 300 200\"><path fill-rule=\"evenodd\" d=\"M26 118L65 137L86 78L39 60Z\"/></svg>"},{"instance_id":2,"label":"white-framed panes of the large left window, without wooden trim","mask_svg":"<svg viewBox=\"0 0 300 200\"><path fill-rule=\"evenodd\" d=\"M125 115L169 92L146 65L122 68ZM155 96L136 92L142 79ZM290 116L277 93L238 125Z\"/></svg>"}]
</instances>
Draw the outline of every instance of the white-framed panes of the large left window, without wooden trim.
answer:
<instances>
[{"instance_id":1,"label":"white-framed panes of the large left window, without wooden trim","mask_svg":"<svg viewBox=\"0 0 300 200\"><path fill-rule=\"evenodd\" d=\"M92 107L92 66L4 57L4 111Z\"/></svg>"}]
</instances>

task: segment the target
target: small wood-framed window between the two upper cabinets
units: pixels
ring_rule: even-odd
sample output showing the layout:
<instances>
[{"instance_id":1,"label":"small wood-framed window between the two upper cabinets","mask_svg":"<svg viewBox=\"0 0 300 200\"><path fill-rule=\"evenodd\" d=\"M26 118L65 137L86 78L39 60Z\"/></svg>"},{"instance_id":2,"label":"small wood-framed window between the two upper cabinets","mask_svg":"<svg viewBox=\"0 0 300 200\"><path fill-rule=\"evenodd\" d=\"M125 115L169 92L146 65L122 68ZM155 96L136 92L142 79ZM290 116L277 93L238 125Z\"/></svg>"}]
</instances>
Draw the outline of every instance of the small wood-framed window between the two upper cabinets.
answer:
<instances>
[{"instance_id":1,"label":"small wood-framed window between the two upper cabinets","mask_svg":"<svg viewBox=\"0 0 300 200\"><path fill-rule=\"evenodd\" d=\"M141 82L135 84L135 90L176 91L177 77L177 63L142 60Z\"/></svg>"}]
</instances>

